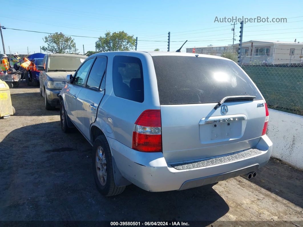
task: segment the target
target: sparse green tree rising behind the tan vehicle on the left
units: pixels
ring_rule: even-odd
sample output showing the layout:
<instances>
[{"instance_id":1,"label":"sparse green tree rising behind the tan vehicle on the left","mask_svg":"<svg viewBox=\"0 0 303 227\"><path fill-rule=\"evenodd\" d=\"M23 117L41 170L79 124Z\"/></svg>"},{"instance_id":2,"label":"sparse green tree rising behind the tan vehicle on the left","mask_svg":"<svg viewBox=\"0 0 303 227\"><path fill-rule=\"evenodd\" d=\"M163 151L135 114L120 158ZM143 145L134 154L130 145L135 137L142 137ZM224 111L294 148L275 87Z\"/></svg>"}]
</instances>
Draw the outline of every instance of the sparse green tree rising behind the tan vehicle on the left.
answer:
<instances>
[{"instance_id":1,"label":"sparse green tree rising behind the tan vehicle on the left","mask_svg":"<svg viewBox=\"0 0 303 227\"><path fill-rule=\"evenodd\" d=\"M75 50L76 44L70 36L65 36L62 32L45 36L43 41L47 46L43 46L43 51L48 51L54 54L69 53L70 50Z\"/></svg>"}]
</instances>

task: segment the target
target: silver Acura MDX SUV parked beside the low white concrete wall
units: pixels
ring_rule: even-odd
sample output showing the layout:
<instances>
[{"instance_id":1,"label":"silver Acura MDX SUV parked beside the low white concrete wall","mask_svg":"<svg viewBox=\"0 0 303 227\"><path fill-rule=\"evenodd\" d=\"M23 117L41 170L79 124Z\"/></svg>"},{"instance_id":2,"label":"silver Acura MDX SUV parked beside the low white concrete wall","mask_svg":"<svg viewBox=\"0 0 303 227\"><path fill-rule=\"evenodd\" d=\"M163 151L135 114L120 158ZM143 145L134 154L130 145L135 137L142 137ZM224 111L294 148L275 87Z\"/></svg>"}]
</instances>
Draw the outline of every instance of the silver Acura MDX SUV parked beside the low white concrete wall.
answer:
<instances>
[{"instance_id":1,"label":"silver Acura MDX SUV parked beside the low white concrete wall","mask_svg":"<svg viewBox=\"0 0 303 227\"><path fill-rule=\"evenodd\" d=\"M235 62L176 52L105 52L67 76L61 127L93 146L99 191L183 190L243 175L271 155L263 96Z\"/></svg>"}]
</instances>

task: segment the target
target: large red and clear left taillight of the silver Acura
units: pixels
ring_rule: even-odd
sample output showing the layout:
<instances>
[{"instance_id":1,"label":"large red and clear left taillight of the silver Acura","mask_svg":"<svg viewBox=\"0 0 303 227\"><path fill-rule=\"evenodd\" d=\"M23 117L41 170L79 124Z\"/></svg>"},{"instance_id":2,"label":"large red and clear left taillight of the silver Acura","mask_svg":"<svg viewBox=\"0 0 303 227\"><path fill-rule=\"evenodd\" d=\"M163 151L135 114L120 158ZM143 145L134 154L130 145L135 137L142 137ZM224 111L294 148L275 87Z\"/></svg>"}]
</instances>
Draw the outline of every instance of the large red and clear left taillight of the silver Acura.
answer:
<instances>
[{"instance_id":1,"label":"large red and clear left taillight of the silver Acura","mask_svg":"<svg viewBox=\"0 0 303 227\"><path fill-rule=\"evenodd\" d=\"M162 152L161 112L145 110L133 129L132 148L141 152Z\"/></svg>"}]
</instances>

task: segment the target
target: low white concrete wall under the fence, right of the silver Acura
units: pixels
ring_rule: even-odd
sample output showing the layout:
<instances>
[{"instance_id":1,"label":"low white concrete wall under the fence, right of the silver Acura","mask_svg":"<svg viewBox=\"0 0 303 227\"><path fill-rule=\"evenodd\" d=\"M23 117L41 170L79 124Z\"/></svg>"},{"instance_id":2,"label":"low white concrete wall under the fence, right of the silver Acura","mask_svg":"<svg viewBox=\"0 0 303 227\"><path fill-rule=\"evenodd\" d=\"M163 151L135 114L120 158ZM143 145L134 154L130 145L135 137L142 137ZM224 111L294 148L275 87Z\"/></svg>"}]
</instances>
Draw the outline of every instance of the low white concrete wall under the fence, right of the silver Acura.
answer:
<instances>
[{"instance_id":1,"label":"low white concrete wall under the fence, right of the silver Acura","mask_svg":"<svg viewBox=\"0 0 303 227\"><path fill-rule=\"evenodd\" d=\"M273 142L271 156L303 169L303 116L268 110L267 135Z\"/></svg>"}]
</instances>

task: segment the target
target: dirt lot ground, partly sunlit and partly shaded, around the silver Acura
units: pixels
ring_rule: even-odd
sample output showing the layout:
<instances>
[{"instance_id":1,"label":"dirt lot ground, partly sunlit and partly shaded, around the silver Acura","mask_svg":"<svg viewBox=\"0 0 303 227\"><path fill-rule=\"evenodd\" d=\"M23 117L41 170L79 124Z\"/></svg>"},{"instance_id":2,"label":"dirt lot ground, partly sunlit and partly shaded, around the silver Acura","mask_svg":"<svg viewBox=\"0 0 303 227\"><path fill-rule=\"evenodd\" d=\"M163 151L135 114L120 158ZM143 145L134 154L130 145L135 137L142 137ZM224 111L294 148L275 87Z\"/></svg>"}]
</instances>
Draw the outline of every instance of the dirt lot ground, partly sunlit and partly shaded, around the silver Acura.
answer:
<instances>
[{"instance_id":1,"label":"dirt lot ground, partly sunlit and partly shaded, around the silver Acura","mask_svg":"<svg viewBox=\"0 0 303 227\"><path fill-rule=\"evenodd\" d=\"M0 119L0 221L303 227L303 172L275 159L250 181L157 193L130 185L103 197L92 175L92 147L80 132L61 131L59 110L45 110L39 88L22 83L10 92L16 114Z\"/></svg>"}]
</instances>

